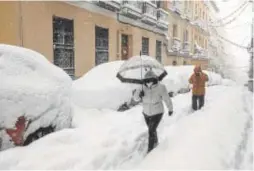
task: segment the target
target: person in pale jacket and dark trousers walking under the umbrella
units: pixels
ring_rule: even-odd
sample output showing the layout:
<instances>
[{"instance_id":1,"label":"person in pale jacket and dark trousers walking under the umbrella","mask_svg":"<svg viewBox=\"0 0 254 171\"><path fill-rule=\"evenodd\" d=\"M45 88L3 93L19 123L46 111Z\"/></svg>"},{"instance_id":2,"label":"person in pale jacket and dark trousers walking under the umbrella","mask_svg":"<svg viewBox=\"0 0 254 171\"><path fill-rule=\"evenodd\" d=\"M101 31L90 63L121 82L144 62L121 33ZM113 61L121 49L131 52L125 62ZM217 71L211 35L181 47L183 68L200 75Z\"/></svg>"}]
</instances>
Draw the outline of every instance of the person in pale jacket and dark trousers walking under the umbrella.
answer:
<instances>
[{"instance_id":1,"label":"person in pale jacket and dark trousers walking under the umbrella","mask_svg":"<svg viewBox=\"0 0 254 171\"><path fill-rule=\"evenodd\" d=\"M173 104L167 93L166 86L159 83L155 73L150 70L145 74L145 83L142 91L138 93L138 99L142 101L143 115L148 126L149 142L148 153L158 144L157 127L164 113L163 101L168 108L168 115L173 114ZM136 95L137 96L137 95Z\"/></svg>"}]
</instances>

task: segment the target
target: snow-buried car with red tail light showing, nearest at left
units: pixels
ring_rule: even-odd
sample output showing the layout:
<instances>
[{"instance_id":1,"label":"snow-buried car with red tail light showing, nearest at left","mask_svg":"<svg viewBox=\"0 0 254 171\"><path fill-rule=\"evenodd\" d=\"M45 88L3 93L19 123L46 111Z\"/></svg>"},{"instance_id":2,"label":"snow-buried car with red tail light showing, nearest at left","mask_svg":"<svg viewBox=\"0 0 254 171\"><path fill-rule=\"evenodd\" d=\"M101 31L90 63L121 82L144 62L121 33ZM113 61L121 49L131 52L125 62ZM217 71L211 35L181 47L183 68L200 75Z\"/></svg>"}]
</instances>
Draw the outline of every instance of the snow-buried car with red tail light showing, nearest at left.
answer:
<instances>
[{"instance_id":1,"label":"snow-buried car with red tail light showing, nearest at left","mask_svg":"<svg viewBox=\"0 0 254 171\"><path fill-rule=\"evenodd\" d=\"M70 127L71 84L43 55L0 44L0 150Z\"/></svg>"}]
</instances>

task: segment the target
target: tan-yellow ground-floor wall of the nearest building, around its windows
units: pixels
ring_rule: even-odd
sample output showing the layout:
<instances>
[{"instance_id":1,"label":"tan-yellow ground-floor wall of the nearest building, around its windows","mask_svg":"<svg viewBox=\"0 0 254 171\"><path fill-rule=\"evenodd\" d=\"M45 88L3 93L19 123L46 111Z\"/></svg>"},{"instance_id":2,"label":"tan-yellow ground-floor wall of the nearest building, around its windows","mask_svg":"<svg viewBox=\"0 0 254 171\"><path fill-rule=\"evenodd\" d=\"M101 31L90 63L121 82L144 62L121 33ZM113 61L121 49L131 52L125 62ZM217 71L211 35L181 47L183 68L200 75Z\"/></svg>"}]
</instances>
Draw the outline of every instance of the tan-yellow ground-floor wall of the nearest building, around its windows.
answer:
<instances>
[{"instance_id":1,"label":"tan-yellow ground-floor wall of the nearest building, around its windows","mask_svg":"<svg viewBox=\"0 0 254 171\"><path fill-rule=\"evenodd\" d=\"M95 26L109 30L109 61L121 60L121 34L130 35L130 55L139 55L142 36L149 38L149 55L156 55L156 40L164 36L119 23L115 18L90 12L65 2L0 2L0 43L33 49L53 62L53 16L74 20L75 76L95 66Z\"/></svg>"}]
</instances>

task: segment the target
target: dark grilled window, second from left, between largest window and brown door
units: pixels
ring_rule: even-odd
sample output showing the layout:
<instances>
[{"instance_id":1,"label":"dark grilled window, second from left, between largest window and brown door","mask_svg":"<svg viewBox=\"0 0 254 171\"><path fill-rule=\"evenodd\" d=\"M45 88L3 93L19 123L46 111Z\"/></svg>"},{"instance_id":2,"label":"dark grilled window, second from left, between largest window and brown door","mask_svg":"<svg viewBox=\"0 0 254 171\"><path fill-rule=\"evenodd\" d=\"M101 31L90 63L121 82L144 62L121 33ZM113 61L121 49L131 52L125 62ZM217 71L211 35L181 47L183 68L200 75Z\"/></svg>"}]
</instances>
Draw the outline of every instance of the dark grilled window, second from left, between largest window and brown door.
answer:
<instances>
[{"instance_id":1,"label":"dark grilled window, second from left, between largest window and brown door","mask_svg":"<svg viewBox=\"0 0 254 171\"><path fill-rule=\"evenodd\" d=\"M95 64L108 62L108 29L95 27Z\"/></svg>"}]
</instances>

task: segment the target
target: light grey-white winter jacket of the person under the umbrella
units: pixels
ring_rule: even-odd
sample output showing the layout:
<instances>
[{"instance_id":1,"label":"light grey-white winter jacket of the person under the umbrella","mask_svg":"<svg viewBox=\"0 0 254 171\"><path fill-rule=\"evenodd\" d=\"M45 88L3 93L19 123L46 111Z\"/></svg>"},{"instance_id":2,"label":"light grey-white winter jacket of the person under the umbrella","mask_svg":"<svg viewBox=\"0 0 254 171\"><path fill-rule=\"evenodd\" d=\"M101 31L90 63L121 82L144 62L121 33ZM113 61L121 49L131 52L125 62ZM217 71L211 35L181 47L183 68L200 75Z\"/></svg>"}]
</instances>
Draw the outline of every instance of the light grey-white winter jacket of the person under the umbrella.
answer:
<instances>
[{"instance_id":1,"label":"light grey-white winter jacket of the person under the umbrella","mask_svg":"<svg viewBox=\"0 0 254 171\"><path fill-rule=\"evenodd\" d=\"M162 101L165 102L168 111L173 111L172 101L167 93L166 86L163 84L155 84L151 88L144 86L144 97L142 98L143 113L148 116L164 113L164 106ZM134 100L139 101L141 90L137 90Z\"/></svg>"}]
</instances>

